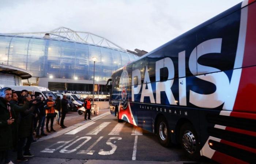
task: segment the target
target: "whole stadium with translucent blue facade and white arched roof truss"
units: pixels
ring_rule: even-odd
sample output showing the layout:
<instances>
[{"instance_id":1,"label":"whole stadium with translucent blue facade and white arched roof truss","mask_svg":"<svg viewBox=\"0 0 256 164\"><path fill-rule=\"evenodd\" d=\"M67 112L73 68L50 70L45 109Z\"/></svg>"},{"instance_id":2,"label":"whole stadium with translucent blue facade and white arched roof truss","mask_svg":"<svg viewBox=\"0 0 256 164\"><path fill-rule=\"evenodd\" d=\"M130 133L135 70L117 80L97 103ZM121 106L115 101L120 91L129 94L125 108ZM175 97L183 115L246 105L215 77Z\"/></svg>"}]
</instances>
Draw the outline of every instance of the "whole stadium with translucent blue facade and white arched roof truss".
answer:
<instances>
[{"instance_id":1,"label":"whole stadium with translucent blue facade and white arched roof truss","mask_svg":"<svg viewBox=\"0 0 256 164\"><path fill-rule=\"evenodd\" d=\"M24 85L51 90L92 91L113 71L138 58L122 47L89 32L60 27L47 32L0 34L0 63L32 73ZM1 76L1 75L0 75ZM101 87L100 91L104 91Z\"/></svg>"}]
</instances>

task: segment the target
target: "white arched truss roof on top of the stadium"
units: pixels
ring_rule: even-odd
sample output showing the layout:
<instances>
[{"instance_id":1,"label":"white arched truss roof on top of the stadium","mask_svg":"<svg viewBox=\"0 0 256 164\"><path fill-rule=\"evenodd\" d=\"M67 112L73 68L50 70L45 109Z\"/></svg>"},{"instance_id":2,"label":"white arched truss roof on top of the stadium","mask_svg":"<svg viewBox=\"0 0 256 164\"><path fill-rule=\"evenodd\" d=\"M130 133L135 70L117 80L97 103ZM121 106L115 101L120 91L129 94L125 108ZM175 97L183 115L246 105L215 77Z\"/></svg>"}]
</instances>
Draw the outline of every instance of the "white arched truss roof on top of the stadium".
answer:
<instances>
[{"instance_id":1,"label":"white arched truss roof on top of the stadium","mask_svg":"<svg viewBox=\"0 0 256 164\"><path fill-rule=\"evenodd\" d=\"M42 31L42 32L18 32L18 33L5 33L8 35L25 35L25 36L35 36L35 37L45 37L45 34L49 34L50 38L53 39L63 39L63 40L71 40L75 42L96 44L98 46L105 46L110 48L116 48L120 50L126 51L121 46L111 42L110 40L93 34L91 32L84 31L74 31L67 27L58 27L50 31Z\"/></svg>"}]
</instances>

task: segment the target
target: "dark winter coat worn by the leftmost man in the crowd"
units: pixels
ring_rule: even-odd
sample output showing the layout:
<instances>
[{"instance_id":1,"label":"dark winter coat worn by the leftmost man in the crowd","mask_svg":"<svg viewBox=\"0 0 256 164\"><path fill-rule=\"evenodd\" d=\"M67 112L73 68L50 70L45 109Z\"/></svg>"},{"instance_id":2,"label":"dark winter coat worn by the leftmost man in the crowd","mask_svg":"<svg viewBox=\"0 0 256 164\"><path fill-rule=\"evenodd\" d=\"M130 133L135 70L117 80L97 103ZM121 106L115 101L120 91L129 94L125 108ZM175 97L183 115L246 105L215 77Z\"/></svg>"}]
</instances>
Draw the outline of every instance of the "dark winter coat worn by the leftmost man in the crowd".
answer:
<instances>
[{"instance_id":1,"label":"dark winter coat worn by the leftmost man in the crowd","mask_svg":"<svg viewBox=\"0 0 256 164\"><path fill-rule=\"evenodd\" d=\"M12 118L15 118L15 112L11 109ZM16 132L16 122L11 125L7 124L7 120L10 119L10 112L7 109L7 103L5 99L0 98L0 151L6 151L13 148L13 138L15 138L14 132Z\"/></svg>"}]
</instances>

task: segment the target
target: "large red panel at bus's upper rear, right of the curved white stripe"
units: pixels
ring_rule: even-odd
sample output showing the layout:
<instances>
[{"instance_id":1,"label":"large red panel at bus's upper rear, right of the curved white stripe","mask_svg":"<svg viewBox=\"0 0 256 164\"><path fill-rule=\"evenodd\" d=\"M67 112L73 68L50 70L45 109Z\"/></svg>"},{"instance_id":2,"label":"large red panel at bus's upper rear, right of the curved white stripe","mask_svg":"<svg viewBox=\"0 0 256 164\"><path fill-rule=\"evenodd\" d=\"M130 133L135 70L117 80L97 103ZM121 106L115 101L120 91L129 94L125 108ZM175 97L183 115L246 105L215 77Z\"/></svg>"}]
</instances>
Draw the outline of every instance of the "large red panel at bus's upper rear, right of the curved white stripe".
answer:
<instances>
[{"instance_id":1,"label":"large red panel at bus's upper rear, right of the curved white stripe","mask_svg":"<svg viewBox=\"0 0 256 164\"><path fill-rule=\"evenodd\" d=\"M252 1L249 1L252 3ZM256 65L256 3L248 5L247 27L243 67ZM242 69L239 88L233 111L247 111L256 113L256 68Z\"/></svg>"}]
</instances>

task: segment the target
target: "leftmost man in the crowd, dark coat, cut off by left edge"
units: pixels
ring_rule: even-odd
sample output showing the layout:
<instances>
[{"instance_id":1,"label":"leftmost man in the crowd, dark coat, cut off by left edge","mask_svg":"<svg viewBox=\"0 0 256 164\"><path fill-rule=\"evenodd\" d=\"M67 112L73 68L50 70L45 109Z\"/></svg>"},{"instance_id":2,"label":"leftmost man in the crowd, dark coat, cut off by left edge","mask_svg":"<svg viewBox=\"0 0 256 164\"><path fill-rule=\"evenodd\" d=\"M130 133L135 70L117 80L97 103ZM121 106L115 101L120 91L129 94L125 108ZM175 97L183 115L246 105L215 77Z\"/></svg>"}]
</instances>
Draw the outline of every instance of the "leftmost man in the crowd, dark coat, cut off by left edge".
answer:
<instances>
[{"instance_id":1,"label":"leftmost man in the crowd, dark coat, cut off by left edge","mask_svg":"<svg viewBox=\"0 0 256 164\"><path fill-rule=\"evenodd\" d=\"M13 131L15 131L15 112L11 109L12 90L4 87L0 90L0 163L12 163L9 157L13 148ZM11 139L10 139L11 138Z\"/></svg>"}]
</instances>

